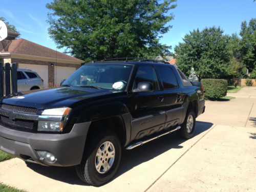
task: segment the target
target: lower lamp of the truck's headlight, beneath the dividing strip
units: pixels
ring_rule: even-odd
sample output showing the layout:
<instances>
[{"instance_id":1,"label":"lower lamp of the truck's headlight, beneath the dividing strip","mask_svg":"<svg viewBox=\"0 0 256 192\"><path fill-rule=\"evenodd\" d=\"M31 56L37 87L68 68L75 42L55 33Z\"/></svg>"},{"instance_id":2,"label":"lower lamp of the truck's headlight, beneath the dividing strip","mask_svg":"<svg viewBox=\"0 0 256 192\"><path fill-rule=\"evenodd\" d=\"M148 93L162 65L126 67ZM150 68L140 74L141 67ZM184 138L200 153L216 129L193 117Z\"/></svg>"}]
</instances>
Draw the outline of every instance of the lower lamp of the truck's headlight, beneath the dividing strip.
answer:
<instances>
[{"instance_id":1,"label":"lower lamp of the truck's headlight, beneath the dividing strip","mask_svg":"<svg viewBox=\"0 0 256 192\"><path fill-rule=\"evenodd\" d=\"M63 129L63 121L38 121L38 131L60 132Z\"/></svg>"}]
</instances>

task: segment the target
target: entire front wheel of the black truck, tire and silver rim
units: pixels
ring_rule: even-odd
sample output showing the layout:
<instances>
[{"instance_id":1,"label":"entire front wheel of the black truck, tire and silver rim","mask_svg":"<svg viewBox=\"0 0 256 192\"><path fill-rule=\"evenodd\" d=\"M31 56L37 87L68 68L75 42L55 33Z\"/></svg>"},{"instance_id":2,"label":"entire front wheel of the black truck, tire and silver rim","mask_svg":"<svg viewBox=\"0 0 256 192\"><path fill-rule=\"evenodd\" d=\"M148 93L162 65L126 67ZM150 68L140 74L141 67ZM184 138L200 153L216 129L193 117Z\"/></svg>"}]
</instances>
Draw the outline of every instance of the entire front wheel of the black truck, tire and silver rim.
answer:
<instances>
[{"instance_id":1,"label":"entire front wheel of the black truck, tire and silver rim","mask_svg":"<svg viewBox=\"0 0 256 192\"><path fill-rule=\"evenodd\" d=\"M89 139L82 162L76 166L76 173L83 182L100 186L116 174L121 159L121 144L116 134L108 132Z\"/></svg>"}]
</instances>

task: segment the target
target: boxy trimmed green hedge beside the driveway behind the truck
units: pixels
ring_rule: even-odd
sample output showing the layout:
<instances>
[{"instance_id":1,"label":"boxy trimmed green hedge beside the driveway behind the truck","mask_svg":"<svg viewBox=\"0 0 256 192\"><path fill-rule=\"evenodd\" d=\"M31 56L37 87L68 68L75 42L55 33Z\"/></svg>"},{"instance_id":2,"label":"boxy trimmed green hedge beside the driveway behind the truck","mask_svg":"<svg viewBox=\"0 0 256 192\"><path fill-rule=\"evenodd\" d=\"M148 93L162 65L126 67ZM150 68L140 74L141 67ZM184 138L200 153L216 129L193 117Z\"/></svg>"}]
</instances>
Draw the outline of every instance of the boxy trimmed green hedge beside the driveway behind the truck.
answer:
<instances>
[{"instance_id":1,"label":"boxy trimmed green hedge beside the driveway behind the truck","mask_svg":"<svg viewBox=\"0 0 256 192\"><path fill-rule=\"evenodd\" d=\"M205 99L216 100L227 95L227 80L202 79Z\"/></svg>"}]
</instances>

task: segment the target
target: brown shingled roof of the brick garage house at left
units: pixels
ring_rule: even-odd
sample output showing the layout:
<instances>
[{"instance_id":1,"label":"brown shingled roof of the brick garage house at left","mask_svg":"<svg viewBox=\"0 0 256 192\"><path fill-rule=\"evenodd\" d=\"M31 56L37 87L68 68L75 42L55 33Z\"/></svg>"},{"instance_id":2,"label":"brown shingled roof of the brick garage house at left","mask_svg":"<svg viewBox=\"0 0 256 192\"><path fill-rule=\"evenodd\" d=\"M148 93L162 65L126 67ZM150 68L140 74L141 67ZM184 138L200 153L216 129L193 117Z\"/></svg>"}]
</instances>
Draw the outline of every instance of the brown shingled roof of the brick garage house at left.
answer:
<instances>
[{"instance_id":1,"label":"brown shingled roof of the brick garage house at left","mask_svg":"<svg viewBox=\"0 0 256 192\"><path fill-rule=\"evenodd\" d=\"M1 45L2 42L2 45ZM35 44L29 40L18 38L14 40L3 40L0 42L0 53L16 53L41 57L52 57L58 59L74 60L83 63L84 61L70 55L55 51L53 49Z\"/></svg>"}]
</instances>

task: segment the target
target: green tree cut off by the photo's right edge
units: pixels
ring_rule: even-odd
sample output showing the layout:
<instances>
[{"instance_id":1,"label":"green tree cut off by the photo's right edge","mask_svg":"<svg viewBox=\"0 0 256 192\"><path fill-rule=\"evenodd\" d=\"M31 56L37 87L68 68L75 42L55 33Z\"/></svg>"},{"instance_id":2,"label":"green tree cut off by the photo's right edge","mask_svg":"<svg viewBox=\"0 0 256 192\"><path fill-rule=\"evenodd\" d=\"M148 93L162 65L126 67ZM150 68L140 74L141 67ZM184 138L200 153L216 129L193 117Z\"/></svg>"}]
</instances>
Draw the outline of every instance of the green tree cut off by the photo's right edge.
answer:
<instances>
[{"instance_id":1,"label":"green tree cut off by the photo's right edge","mask_svg":"<svg viewBox=\"0 0 256 192\"><path fill-rule=\"evenodd\" d=\"M240 35L242 62L252 72L256 66L256 18L252 18L248 25L246 22L242 23Z\"/></svg>"}]
</instances>

